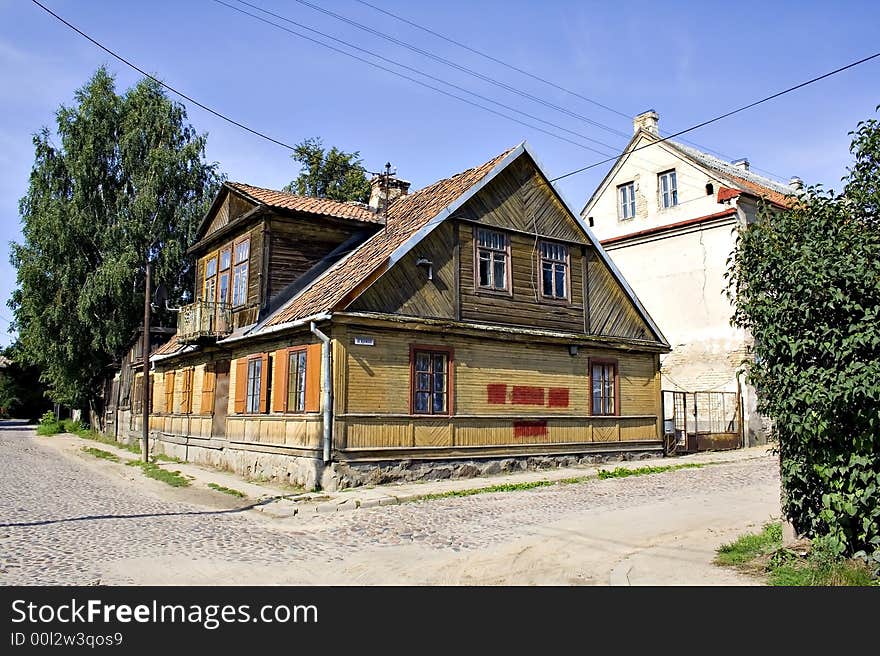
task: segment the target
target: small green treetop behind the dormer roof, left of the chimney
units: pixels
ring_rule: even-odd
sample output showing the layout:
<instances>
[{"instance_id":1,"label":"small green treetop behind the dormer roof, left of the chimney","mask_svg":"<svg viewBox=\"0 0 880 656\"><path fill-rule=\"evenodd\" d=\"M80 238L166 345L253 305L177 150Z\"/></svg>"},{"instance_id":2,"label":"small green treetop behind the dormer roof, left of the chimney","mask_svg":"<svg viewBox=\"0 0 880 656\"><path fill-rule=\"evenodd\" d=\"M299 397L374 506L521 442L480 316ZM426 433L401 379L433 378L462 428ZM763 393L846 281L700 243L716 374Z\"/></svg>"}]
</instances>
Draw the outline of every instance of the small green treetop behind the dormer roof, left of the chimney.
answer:
<instances>
[{"instance_id":1,"label":"small green treetop behind the dormer roof, left of the chimney","mask_svg":"<svg viewBox=\"0 0 880 656\"><path fill-rule=\"evenodd\" d=\"M334 146L325 152L321 140L311 138L297 144L291 157L302 166L284 191L338 201L366 203L370 199L370 181L359 151L346 153Z\"/></svg>"}]
</instances>

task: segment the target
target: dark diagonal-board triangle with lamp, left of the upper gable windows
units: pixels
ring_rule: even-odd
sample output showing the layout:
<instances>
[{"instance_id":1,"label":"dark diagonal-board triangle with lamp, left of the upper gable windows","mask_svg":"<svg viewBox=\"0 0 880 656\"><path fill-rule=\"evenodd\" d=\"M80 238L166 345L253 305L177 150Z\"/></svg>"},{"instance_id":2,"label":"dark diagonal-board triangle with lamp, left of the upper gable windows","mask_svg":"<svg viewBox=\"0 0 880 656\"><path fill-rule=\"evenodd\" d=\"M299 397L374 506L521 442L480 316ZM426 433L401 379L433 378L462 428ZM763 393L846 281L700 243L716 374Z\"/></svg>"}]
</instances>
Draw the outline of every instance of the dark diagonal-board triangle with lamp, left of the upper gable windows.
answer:
<instances>
[{"instance_id":1,"label":"dark diagonal-board triangle with lamp, left of the upper gable windows","mask_svg":"<svg viewBox=\"0 0 880 656\"><path fill-rule=\"evenodd\" d=\"M456 301L454 226L444 223L386 271L347 309L417 317L454 319ZM416 266L419 258L432 262Z\"/></svg>"}]
</instances>

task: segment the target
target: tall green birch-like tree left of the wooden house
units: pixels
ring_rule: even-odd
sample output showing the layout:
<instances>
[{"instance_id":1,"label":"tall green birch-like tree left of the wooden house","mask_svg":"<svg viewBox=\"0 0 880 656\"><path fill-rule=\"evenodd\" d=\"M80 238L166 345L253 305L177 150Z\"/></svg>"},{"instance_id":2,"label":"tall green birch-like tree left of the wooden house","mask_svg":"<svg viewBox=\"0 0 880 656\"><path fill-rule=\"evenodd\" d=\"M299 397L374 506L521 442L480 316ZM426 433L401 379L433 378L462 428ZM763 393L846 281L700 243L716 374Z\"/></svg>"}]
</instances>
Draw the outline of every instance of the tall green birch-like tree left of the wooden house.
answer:
<instances>
[{"instance_id":1,"label":"tall green birch-like tree left of the wooden house","mask_svg":"<svg viewBox=\"0 0 880 656\"><path fill-rule=\"evenodd\" d=\"M85 408L142 323L146 259L171 302L191 288L185 250L221 178L155 81L118 95L101 68L55 118L58 145L46 127L33 139L9 305L51 397Z\"/></svg>"}]
</instances>

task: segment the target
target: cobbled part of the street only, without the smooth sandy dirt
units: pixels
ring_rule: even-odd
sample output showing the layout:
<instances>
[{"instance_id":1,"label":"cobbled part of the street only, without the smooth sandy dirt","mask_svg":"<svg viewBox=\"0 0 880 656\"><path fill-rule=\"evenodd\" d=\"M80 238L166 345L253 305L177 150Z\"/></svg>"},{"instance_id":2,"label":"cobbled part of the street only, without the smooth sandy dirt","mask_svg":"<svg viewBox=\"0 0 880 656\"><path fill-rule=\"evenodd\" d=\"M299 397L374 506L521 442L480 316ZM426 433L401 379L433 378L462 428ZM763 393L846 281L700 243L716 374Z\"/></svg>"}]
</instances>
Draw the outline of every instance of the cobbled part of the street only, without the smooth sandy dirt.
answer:
<instances>
[{"instance_id":1,"label":"cobbled part of the street only, without the smooth sandy dirt","mask_svg":"<svg viewBox=\"0 0 880 656\"><path fill-rule=\"evenodd\" d=\"M148 495L121 478L96 472L85 460L41 445L45 439L51 438L0 427L0 584L106 582L105 572L114 562L136 558L320 568L352 554L371 552L380 558L385 547L407 545L453 557L534 536L550 522L586 513L778 482L774 460L766 457L281 521ZM153 582L137 571L121 580L110 578L114 583Z\"/></svg>"}]
</instances>

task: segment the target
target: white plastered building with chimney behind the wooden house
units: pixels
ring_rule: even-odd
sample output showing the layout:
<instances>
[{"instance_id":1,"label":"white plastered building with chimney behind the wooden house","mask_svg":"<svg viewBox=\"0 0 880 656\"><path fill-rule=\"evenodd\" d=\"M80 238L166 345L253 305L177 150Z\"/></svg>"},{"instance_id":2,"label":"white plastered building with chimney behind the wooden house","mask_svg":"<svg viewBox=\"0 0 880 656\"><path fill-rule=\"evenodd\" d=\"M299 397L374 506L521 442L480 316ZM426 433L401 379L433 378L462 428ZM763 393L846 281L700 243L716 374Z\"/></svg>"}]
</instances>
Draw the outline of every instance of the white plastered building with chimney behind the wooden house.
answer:
<instances>
[{"instance_id":1,"label":"white plastered building with chimney behind the wooden house","mask_svg":"<svg viewBox=\"0 0 880 656\"><path fill-rule=\"evenodd\" d=\"M754 220L761 199L785 207L801 182L661 141L658 124L653 110L635 118L632 140L581 214L673 347L663 389L738 392L745 441L763 443L754 389L738 375L749 336L730 325L724 274L737 226Z\"/></svg>"}]
</instances>

